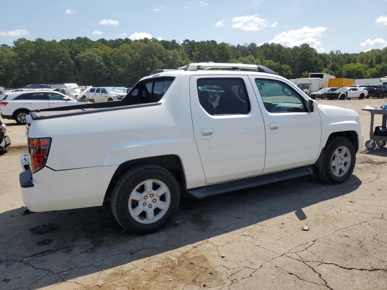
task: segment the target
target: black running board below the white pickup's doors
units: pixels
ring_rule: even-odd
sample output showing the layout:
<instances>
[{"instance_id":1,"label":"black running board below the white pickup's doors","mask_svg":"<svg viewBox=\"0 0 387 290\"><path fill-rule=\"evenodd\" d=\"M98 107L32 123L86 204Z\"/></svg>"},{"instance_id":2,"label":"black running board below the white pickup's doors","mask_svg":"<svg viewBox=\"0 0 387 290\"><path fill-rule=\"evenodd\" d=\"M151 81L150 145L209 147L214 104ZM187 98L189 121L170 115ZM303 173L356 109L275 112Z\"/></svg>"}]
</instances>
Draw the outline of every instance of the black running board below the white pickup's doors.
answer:
<instances>
[{"instance_id":1,"label":"black running board below the white pickup's doors","mask_svg":"<svg viewBox=\"0 0 387 290\"><path fill-rule=\"evenodd\" d=\"M187 189L187 193L194 196L195 198L205 198L208 196L226 193L229 191L235 191L240 189L246 189L254 186L275 183L286 179L307 176L313 174L312 167L300 167L295 169L289 169L281 172L274 172L264 174L260 176L254 176L246 179L238 179L234 181L228 181L225 183L207 185L198 188Z\"/></svg>"}]
</instances>

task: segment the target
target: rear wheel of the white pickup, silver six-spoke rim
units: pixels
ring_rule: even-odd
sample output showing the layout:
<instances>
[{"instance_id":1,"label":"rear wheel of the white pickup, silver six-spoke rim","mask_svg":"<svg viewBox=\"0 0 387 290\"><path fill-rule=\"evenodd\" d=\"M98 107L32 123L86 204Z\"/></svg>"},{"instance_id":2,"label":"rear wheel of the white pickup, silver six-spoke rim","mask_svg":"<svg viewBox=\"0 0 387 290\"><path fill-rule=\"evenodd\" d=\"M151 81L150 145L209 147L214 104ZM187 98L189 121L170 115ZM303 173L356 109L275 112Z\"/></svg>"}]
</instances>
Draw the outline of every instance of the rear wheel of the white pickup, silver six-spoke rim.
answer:
<instances>
[{"instance_id":1,"label":"rear wheel of the white pickup, silver six-spoke rim","mask_svg":"<svg viewBox=\"0 0 387 290\"><path fill-rule=\"evenodd\" d=\"M125 172L111 194L111 211L128 232L148 234L162 229L175 216L180 187L166 169L152 164Z\"/></svg>"}]
</instances>

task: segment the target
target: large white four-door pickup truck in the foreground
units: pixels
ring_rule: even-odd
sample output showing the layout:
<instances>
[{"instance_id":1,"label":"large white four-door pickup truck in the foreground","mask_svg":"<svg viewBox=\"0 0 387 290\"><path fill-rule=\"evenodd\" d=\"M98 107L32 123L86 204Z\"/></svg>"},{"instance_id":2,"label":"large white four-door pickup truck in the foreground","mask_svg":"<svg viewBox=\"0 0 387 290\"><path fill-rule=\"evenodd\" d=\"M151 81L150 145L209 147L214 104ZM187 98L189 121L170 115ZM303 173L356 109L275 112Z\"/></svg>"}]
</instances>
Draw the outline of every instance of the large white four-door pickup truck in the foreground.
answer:
<instances>
[{"instance_id":1,"label":"large white four-door pickup truck in the foreground","mask_svg":"<svg viewBox=\"0 0 387 290\"><path fill-rule=\"evenodd\" d=\"M268 68L224 63L144 77L122 101L32 112L27 126L20 184L29 210L110 202L137 233L166 225L180 194L313 173L344 182L363 143L355 111L319 105Z\"/></svg>"}]
</instances>

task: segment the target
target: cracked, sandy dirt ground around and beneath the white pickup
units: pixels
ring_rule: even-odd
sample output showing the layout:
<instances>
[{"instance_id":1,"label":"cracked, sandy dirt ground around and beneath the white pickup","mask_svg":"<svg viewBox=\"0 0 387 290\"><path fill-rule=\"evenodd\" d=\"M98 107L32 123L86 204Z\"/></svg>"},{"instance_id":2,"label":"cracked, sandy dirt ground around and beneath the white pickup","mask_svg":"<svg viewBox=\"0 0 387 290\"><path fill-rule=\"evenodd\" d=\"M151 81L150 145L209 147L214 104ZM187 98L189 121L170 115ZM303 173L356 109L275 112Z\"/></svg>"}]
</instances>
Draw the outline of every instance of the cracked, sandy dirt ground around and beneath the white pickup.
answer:
<instances>
[{"instance_id":1,"label":"cracked, sandy dirt ground around and beneath the white pickup","mask_svg":"<svg viewBox=\"0 0 387 290\"><path fill-rule=\"evenodd\" d=\"M360 109L384 101L318 102L356 110L367 140L370 114ZM363 148L340 185L309 176L183 198L173 224L140 236L125 232L109 205L24 214L25 127L7 125L13 144L0 156L2 290L387 289L387 148ZM57 229L30 230L48 223Z\"/></svg>"}]
</instances>

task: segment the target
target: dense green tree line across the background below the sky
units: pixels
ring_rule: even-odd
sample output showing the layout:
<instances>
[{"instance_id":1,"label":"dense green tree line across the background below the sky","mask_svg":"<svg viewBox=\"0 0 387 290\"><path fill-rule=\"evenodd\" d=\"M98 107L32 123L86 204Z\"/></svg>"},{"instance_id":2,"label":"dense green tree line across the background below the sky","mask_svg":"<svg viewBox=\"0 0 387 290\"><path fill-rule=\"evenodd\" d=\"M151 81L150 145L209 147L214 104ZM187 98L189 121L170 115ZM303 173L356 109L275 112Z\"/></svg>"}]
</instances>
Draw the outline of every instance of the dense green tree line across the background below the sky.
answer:
<instances>
[{"instance_id":1,"label":"dense green tree line across the background below the sky","mask_svg":"<svg viewBox=\"0 0 387 290\"><path fill-rule=\"evenodd\" d=\"M133 86L160 68L190 62L239 62L264 65L286 78L324 72L336 77L377 78L387 75L387 47L360 53L317 53L308 44L232 45L211 41L89 38L59 42L19 38L0 46L0 86L77 83L93 86Z\"/></svg>"}]
</instances>

